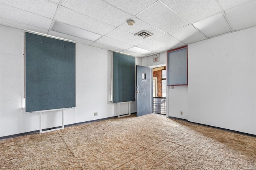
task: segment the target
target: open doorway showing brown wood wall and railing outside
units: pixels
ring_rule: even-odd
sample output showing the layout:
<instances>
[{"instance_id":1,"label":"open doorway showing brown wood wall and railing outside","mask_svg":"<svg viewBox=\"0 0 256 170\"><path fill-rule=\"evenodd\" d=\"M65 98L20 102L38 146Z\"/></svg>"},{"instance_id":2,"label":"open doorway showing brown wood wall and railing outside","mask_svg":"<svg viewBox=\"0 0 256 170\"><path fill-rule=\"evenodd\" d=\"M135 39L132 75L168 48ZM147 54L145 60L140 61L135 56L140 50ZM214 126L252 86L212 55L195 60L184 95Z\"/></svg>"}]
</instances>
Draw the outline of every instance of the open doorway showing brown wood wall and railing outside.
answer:
<instances>
[{"instance_id":1,"label":"open doorway showing brown wood wall and railing outside","mask_svg":"<svg viewBox=\"0 0 256 170\"><path fill-rule=\"evenodd\" d=\"M152 69L153 113L166 115L166 66Z\"/></svg>"}]
</instances>

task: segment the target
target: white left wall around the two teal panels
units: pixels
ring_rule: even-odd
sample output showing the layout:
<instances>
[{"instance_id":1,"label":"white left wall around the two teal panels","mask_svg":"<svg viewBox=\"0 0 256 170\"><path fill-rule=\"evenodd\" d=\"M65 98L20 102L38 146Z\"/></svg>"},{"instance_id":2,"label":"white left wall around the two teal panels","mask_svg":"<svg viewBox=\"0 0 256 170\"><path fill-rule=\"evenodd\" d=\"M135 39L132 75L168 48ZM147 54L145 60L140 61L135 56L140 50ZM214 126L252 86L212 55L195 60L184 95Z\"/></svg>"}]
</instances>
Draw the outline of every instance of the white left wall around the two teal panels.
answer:
<instances>
[{"instance_id":1,"label":"white left wall around the two teal panels","mask_svg":"<svg viewBox=\"0 0 256 170\"><path fill-rule=\"evenodd\" d=\"M0 25L0 37L0 137L39 130L39 114L20 109L23 32ZM136 58L136 64L141 63L142 59ZM76 43L76 108L65 111L64 124L116 116L116 104L110 101L110 85L111 52ZM131 112L136 112L136 102L132 102ZM128 104L121 105L120 113L128 113ZM42 113L42 128L61 126L61 116L61 111Z\"/></svg>"}]
</instances>

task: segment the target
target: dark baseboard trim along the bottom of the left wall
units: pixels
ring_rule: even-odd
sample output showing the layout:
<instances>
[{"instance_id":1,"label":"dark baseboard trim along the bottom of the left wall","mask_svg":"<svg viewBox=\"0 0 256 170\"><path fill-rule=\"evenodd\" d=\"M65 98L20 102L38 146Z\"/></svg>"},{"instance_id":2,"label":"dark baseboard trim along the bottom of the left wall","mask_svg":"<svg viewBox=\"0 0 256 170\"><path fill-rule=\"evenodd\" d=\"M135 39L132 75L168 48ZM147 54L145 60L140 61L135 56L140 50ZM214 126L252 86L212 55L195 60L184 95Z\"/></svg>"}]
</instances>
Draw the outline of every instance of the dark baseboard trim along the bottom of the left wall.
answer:
<instances>
[{"instance_id":1,"label":"dark baseboard trim along the bottom of the left wall","mask_svg":"<svg viewBox=\"0 0 256 170\"><path fill-rule=\"evenodd\" d=\"M136 112L131 113L131 115L133 115L133 114L136 114ZM85 122L80 122L80 123L73 123L73 124L69 124L69 125L64 125L64 127L72 127L72 126L76 126L76 125L82 125L82 124L92 123L92 122L99 122L99 121L104 121L104 120L114 119L114 118L117 118L117 116L107 117L107 118L103 118L103 119L96 119L96 120L92 120L92 121L85 121ZM53 127L53 128L44 128L44 129L42 129L42 131L52 130L54 128L61 128L61 127L62 126ZM24 133L19 133L19 134L12 134L12 135L8 135L8 136L2 136L2 137L0 137L0 140L8 139L8 138L15 138L15 137L18 137L18 136L24 136L24 135L29 135L29 134L36 134L36 133L39 133L39 130L34 130L34 131L24 132Z\"/></svg>"}]
</instances>

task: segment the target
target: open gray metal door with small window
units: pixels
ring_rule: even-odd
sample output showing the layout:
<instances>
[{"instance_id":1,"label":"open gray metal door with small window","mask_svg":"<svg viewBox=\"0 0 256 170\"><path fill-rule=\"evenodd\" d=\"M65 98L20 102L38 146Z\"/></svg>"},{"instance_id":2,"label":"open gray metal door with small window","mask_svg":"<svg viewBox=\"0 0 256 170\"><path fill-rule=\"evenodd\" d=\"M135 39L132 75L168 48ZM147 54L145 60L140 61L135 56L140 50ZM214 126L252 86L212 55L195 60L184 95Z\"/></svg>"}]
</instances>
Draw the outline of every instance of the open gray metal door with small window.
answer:
<instances>
[{"instance_id":1,"label":"open gray metal door with small window","mask_svg":"<svg viewBox=\"0 0 256 170\"><path fill-rule=\"evenodd\" d=\"M147 115L151 113L151 81L149 67L136 65L137 69L137 116Z\"/></svg>"}]
</instances>

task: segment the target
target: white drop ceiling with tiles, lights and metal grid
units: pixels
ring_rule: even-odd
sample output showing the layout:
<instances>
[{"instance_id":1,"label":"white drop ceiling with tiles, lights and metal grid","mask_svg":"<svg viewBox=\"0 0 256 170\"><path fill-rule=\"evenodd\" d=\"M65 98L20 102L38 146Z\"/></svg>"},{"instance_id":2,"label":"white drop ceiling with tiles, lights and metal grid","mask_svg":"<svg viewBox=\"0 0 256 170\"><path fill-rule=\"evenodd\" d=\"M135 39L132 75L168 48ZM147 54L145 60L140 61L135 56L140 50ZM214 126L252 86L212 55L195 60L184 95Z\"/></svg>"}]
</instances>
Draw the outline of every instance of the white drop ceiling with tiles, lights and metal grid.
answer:
<instances>
[{"instance_id":1,"label":"white drop ceiling with tiles, lights and metal grid","mask_svg":"<svg viewBox=\"0 0 256 170\"><path fill-rule=\"evenodd\" d=\"M256 26L256 0L0 0L0 24L146 57Z\"/></svg>"}]
</instances>

